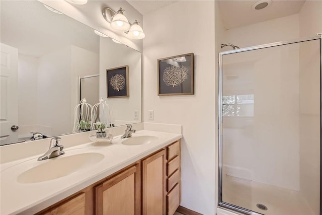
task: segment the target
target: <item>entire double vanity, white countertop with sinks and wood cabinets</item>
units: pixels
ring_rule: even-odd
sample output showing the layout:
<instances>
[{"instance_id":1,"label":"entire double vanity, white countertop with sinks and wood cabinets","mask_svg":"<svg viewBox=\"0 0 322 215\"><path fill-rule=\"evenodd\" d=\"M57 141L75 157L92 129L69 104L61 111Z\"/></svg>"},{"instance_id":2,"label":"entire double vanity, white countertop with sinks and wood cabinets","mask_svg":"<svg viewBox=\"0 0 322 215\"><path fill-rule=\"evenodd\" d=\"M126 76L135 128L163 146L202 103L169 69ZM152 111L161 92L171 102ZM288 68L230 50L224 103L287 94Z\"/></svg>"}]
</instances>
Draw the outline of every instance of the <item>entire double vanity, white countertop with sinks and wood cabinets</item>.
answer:
<instances>
[{"instance_id":1,"label":"entire double vanity, white countertop with sinks and wood cabinets","mask_svg":"<svg viewBox=\"0 0 322 215\"><path fill-rule=\"evenodd\" d=\"M160 132L138 123L131 137L120 138L123 127L111 129L111 142L91 142L87 132L61 136L64 154L43 161L37 159L45 151L27 150L48 147L49 138L21 144L28 157L20 151L2 159L1 214L173 214L180 203L181 126ZM74 138L79 145L69 144Z\"/></svg>"}]
</instances>

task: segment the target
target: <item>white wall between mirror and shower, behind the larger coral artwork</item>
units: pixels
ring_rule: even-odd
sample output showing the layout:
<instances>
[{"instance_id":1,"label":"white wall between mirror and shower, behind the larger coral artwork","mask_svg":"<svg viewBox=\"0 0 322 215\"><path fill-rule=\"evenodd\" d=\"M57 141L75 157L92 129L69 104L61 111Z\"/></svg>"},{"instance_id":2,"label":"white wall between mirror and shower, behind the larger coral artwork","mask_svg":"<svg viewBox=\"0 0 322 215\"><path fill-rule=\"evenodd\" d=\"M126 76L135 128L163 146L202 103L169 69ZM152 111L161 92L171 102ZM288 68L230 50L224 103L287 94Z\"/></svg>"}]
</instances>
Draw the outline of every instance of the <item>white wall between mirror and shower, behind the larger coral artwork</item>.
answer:
<instances>
[{"instance_id":1,"label":"white wall between mirror and shower, behind the larger coral artwork","mask_svg":"<svg viewBox=\"0 0 322 215\"><path fill-rule=\"evenodd\" d=\"M215 214L214 2L179 1L143 18L144 121L153 110L153 122L183 125L181 205ZM195 95L157 96L156 60L190 52Z\"/></svg>"}]
</instances>

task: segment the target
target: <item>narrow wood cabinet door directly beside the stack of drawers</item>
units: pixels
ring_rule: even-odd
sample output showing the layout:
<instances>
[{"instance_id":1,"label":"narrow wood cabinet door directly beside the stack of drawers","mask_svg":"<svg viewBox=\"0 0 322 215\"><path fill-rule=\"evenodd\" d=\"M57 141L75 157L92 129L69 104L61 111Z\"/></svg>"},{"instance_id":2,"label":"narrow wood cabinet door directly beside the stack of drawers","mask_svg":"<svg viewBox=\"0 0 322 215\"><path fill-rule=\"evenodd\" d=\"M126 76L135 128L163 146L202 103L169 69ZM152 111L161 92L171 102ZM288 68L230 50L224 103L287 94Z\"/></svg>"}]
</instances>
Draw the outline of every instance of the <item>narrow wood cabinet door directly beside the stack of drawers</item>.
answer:
<instances>
[{"instance_id":1,"label":"narrow wood cabinet door directly beside the stack of drawers","mask_svg":"<svg viewBox=\"0 0 322 215\"><path fill-rule=\"evenodd\" d=\"M142 214L166 214L166 149L142 160Z\"/></svg>"}]
</instances>

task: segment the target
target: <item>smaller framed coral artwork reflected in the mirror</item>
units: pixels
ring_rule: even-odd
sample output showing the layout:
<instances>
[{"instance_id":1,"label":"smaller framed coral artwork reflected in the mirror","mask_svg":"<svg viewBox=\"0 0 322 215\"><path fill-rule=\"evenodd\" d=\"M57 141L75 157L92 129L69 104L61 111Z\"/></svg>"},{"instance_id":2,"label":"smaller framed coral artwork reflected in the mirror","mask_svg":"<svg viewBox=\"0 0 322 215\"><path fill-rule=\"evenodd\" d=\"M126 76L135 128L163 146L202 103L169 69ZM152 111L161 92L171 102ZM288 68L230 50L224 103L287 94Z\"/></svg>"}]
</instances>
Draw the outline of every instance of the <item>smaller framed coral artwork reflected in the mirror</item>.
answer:
<instances>
[{"instance_id":1,"label":"smaller framed coral artwork reflected in the mirror","mask_svg":"<svg viewBox=\"0 0 322 215\"><path fill-rule=\"evenodd\" d=\"M106 69L107 98L129 97L129 66Z\"/></svg>"}]
</instances>

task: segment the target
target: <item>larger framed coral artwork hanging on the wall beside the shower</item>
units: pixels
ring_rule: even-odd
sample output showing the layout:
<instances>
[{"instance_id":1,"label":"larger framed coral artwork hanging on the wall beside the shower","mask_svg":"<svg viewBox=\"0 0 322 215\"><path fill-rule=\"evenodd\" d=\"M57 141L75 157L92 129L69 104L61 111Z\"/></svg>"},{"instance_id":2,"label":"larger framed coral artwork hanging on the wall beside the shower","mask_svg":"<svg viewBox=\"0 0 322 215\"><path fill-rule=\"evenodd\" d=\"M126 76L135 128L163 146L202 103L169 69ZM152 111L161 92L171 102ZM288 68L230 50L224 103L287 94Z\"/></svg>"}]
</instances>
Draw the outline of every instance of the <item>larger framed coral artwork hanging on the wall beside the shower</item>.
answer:
<instances>
[{"instance_id":1,"label":"larger framed coral artwork hanging on the wall beside the shower","mask_svg":"<svg viewBox=\"0 0 322 215\"><path fill-rule=\"evenodd\" d=\"M157 59L157 95L193 95L193 53Z\"/></svg>"}]
</instances>

